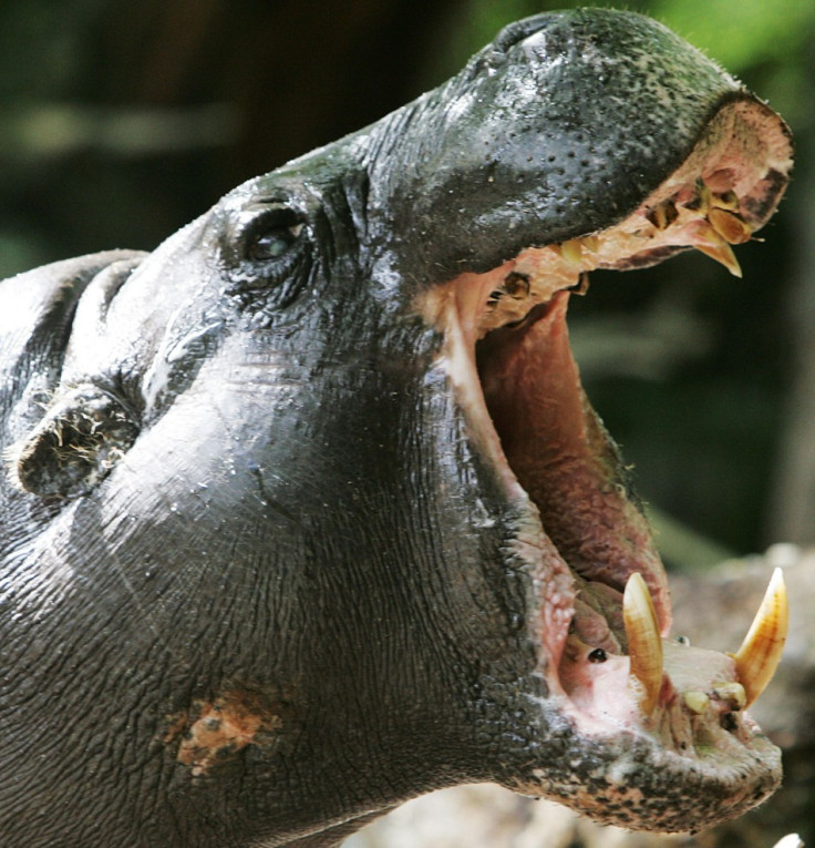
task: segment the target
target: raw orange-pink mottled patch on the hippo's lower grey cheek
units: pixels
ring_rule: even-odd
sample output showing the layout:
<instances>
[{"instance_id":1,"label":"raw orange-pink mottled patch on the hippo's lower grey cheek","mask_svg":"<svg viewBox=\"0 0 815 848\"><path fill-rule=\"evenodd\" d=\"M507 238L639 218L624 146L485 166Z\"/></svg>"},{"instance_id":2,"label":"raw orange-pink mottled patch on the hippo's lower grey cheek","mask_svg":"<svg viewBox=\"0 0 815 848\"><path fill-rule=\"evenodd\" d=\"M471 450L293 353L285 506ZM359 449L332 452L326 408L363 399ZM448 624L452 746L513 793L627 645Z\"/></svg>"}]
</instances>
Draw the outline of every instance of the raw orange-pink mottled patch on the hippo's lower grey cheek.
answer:
<instances>
[{"instance_id":1,"label":"raw orange-pink mottled patch on the hippo's lower grey cheek","mask_svg":"<svg viewBox=\"0 0 815 848\"><path fill-rule=\"evenodd\" d=\"M198 777L248 745L271 745L282 726L265 696L230 689L212 701L194 701L187 715L172 717L164 742L178 743L176 759Z\"/></svg>"}]
</instances>

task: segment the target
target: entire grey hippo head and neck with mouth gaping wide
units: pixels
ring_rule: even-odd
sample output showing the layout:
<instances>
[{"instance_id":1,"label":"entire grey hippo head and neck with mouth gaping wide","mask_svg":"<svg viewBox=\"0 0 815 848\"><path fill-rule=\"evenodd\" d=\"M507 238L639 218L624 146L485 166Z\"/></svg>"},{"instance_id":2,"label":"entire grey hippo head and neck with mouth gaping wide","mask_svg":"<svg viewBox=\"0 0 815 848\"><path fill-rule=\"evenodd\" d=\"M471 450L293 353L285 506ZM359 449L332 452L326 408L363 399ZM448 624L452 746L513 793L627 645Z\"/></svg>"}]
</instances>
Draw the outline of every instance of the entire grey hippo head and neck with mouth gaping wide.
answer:
<instances>
[{"instance_id":1,"label":"entire grey hippo head and neck with mouth gaping wide","mask_svg":"<svg viewBox=\"0 0 815 848\"><path fill-rule=\"evenodd\" d=\"M594 268L737 273L790 167L661 25L544 14L149 255L4 283L3 832L331 845L478 780L667 831L764 799L783 592L735 655L670 637L566 311Z\"/></svg>"}]
</instances>

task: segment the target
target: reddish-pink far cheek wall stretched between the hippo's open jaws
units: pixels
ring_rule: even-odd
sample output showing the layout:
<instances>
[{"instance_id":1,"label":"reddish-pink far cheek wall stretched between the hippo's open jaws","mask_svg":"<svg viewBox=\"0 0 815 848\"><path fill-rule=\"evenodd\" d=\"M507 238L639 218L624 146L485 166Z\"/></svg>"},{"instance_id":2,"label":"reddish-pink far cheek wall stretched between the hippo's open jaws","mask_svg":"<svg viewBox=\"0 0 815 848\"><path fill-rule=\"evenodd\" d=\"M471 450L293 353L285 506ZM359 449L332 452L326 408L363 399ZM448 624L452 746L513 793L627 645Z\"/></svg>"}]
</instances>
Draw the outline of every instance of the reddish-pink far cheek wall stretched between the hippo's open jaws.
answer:
<instances>
[{"instance_id":1,"label":"reddish-pink far cheek wall stretched between the hippo's open jaws","mask_svg":"<svg viewBox=\"0 0 815 848\"><path fill-rule=\"evenodd\" d=\"M585 580L619 592L640 572L667 635L664 570L617 448L580 386L566 328L568 297L558 293L538 315L478 343L487 408L560 555Z\"/></svg>"}]
</instances>

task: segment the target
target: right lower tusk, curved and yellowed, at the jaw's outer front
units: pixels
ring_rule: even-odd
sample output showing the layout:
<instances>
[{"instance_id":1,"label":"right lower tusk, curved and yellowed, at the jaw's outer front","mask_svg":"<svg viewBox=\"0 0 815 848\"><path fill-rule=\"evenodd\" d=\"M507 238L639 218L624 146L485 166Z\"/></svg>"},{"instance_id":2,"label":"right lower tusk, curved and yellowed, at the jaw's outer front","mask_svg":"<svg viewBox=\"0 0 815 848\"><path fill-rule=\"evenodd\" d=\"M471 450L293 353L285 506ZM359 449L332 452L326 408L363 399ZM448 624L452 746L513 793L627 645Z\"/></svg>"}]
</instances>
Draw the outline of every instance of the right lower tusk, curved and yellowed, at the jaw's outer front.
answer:
<instances>
[{"instance_id":1,"label":"right lower tusk, curved and yellowed, at the jaw's outer front","mask_svg":"<svg viewBox=\"0 0 815 848\"><path fill-rule=\"evenodd\" d=\"M746 692L746 706L764 692L775 674L788 626L790 606L784 573L775 569L747 635L733 655L736 674Z\"/></svg>"}]
</instances>

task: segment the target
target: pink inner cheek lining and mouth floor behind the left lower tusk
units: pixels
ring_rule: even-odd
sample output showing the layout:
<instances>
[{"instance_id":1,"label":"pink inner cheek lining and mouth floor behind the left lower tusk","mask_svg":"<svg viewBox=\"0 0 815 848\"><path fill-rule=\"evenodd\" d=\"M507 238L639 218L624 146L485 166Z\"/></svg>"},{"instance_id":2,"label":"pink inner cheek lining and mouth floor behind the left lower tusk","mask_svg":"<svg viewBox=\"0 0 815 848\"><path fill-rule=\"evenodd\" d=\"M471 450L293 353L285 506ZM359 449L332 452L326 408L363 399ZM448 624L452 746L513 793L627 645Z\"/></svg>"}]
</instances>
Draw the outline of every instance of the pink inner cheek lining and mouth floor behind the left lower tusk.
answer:
<instances>
[{"instance_id":1,"label":"pink inner cheek lining and mouth floor behind the left lower tusk","mask_svg":"<svg viewBox=\"0 0 815 848\"><path fill-rule=\"evenodd\" d=\"M582 391L566 326L569 297L558 292L522 321L487 334L476 344L476 364L506 461L555 549L551 568L563 563L572 580L568 616L544 629L550 685L584 719L633 726L622 593L640 573L662 636L670 599L622 461ZM555 603L565 600L560 592Z\"/></svg>"}]
</instances>

